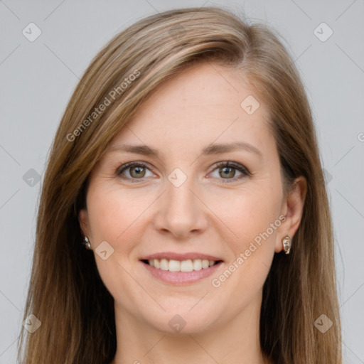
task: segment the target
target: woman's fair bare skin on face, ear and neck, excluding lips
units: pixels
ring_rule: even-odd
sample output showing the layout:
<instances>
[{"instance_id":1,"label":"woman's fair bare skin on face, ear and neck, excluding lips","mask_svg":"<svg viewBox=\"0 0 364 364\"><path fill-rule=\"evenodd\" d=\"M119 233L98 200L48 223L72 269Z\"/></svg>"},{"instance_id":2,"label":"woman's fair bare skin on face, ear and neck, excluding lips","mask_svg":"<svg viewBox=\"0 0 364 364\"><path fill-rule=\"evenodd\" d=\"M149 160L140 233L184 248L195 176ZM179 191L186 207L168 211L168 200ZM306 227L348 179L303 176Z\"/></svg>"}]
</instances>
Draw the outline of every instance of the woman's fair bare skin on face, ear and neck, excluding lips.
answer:
<instances>
[{"instance_id":1,"label":"woman's fair bare skin on face, ear and neck, excluding lips","mask_svg":"<svg viewBox=\"0 0 364 364\"><path fill-rule=\"evenodd\" d=\"M154 90L109 146L146 144L159 156L107 151L92 170L79 218L92 250L102 241L114 249L106 260L95 254L115 301L112 364L268 363L259 347L262 286L283 237L299 227L306 181L297 178L284 196L269 112L260 102L247 114L240 103L248 95L259 101L237 71L209 63L183 70ZM201 155L213 142L233 141L252 144L262 157L244 149ZM147 166L117 176L131 161ZM215 166L220 161L234 161L251 175L232 168L225 176ZM179 187L168 180L175 168L187 176ZM213 287L212 279L279 215L284 222ZM213 276L178 286L159 281L139 261L156 252L201 252L224 262ZM186 322L179 332L168 325L176 314Z\"/></svg>"}]
</instances>

